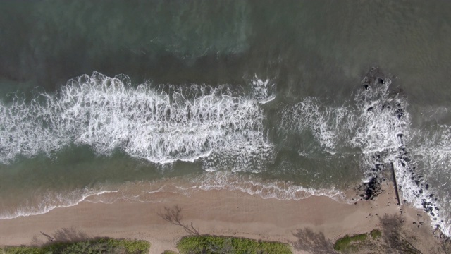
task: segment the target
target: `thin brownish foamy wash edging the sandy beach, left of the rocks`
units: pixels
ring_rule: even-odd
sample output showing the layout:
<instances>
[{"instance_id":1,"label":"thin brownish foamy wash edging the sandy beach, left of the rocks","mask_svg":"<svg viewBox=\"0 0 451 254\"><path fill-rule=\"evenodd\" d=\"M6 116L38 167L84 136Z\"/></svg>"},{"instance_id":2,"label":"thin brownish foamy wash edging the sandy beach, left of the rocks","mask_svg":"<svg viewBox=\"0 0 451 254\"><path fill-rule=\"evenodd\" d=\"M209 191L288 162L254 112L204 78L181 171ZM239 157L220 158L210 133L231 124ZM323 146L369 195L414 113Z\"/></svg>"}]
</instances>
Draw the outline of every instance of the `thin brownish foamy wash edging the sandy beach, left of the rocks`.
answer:
<instances>
[{"instance_id":1,"label":"thin brownish foamy wash edging the sandy beach, left of the rocks","mask_svg":"<svg viewBox=\"0 0 451 254\"><path fill-rule=\"evenodd\" d=\"M228 190L241 191L261 198L278 200L302 200L311 196L326 196L338 202L350 203L345 194L332 189L315 189L297 186L285 181L263 181L256 175L235 174L231 171L205 172L194 179L161 179L156 181L137 181L123 183L121 186L83 188L68 193L48 192L34 200L26 201L19 207L2 210L0 219L13 219L44 214L56 208L71 207L80 202L112 204L118 200L132 202L163 202L164 193L191 196L197 191Z\"/></svg>"}]
</instances>

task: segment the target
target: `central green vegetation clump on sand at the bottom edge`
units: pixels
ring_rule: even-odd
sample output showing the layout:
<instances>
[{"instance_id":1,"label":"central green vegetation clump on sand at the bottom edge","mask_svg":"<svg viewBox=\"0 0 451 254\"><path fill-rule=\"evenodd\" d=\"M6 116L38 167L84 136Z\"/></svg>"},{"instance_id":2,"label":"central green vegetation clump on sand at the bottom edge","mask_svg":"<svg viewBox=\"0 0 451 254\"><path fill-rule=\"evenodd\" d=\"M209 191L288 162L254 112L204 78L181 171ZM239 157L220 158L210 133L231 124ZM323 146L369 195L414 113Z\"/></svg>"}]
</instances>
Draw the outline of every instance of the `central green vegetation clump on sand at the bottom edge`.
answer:
<instances>
[{"instance_id":1,"label":"central green vegetation clump on sand at the bottom edge","mask_svg":"<svg viewBox=\"0 0 451 254\"><path fill-rule=\"evenodd\" d=\"M292 253L285 243L255 241L227 236L185 236L178 243L181 254L185 253Z\"/></svg>"}]
</instances>

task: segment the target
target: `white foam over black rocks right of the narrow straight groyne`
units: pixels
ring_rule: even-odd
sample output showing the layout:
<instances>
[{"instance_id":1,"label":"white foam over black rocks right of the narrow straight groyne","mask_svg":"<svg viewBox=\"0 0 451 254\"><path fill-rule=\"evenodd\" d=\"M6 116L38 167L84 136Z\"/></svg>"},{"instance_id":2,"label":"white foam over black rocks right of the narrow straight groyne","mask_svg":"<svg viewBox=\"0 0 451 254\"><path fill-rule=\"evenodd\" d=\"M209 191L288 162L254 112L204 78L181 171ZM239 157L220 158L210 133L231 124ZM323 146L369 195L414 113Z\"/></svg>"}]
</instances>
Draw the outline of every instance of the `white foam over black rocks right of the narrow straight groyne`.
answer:
<instances>
[{"instance_id":1,"label":"white foam over black rocks right of the narrow straight groyne","mask_svg":"<svg viewBox=\"0 0 451 254\"><path fill-rule=\"evenodd\" d=\"M451 236L451 196L450 186L451 176L451 127L447 125L437 125L431 131L412 132L412 139L409 140L411 148L410 155L412 161L398 163L397 167L410 169L404 171L402 175L404 181L413 191L408 191L404 196L406 200L412 202L416 207L429 208L432 226L440 227L447 236ZM422 170L412 170L412 168ZM409 173L414 172L416 175ZM412 183L412 176L418 176L419 186ZM410 181L409 181L410 180ZM426 188L426 184L428 187ZM419 191L421 189L421 191ZM437 200L436 200L437 199ZM432 209L431 209L432 208Z\"/></svg>"}]
</instances>

